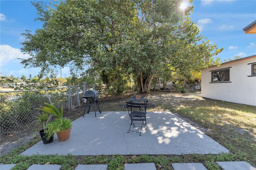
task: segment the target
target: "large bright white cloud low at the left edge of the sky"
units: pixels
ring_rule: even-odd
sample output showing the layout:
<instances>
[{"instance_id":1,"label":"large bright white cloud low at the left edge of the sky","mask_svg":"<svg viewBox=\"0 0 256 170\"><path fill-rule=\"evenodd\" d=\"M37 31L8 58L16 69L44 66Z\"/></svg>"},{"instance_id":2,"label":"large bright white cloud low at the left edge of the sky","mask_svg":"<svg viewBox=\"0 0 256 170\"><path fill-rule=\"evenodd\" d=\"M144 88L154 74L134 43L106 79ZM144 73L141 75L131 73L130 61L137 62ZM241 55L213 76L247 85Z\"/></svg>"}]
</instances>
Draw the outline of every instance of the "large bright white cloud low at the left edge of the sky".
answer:
<instances>
[{"instance_id":1,"label":"large bright white cloud low at the left edge of the sky","mask_svg":"<svg viewBox=\"0 0 256 170\"><path fill-rule=\"evenodd\" d=\"M10 62L20 62L17 58L27 59L28 54L23 54L20 49L13 48L10 45L0 45L0 65L7 65Z\"/></svg>"}]
</instances>

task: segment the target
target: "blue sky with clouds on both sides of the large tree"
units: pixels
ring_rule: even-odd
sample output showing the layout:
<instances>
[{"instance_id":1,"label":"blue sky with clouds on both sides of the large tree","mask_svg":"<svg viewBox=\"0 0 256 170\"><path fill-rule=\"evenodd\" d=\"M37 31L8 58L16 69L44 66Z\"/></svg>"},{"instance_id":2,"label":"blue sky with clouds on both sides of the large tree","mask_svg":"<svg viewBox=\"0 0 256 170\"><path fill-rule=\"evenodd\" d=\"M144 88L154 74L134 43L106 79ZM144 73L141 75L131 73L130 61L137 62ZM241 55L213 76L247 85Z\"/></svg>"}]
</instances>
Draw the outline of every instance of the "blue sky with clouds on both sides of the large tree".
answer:
<instances>
[{"instance_id":1,"label":"blue sky with clouds on both sides of the large tree","mask_svg":"<svg viewBox=\"0 0 256 170\"><path fill-rule=\"evenodd\" d=\"M0 72L27 78L38 74L38 69L24 69L17 58L28 58L20 51L25 30L34 32L42 28L31 0L0 0ZM224 47L218 57L224 59L247 57L256 54L256 34L245 34L243 28L256 20L256 0L194 0L194 12L190 15L200 34ZM60 71L59 71L60 72ZM70 76L69 68L62 69L62 77ZM57 77L60 77L60 73Z\"/></svg>"}]
</instances>

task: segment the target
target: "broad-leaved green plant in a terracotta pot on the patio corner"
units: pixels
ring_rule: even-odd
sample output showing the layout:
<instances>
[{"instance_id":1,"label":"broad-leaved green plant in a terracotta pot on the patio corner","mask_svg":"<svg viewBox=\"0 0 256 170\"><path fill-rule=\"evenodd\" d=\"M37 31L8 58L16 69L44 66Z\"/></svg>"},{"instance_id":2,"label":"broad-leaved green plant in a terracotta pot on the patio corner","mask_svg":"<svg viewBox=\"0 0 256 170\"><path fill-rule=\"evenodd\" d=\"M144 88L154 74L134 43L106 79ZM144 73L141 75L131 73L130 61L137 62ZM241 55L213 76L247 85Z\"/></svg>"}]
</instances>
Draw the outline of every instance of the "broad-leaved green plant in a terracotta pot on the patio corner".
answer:
<instances>
[{"instance_id":1,"label":"broad-leaved green plant in a terracotta pot on the patio corner","mask_svg":"<svg viewBox=\"0 0 256 170\"><path fill-rule=\"evenodd\" d=\"M72 128L72 121L70 119L63 118L63 106L59 111L53 104L44 103L46 106L40 106L40 110L45 113L49 113L52 116L56 116L54 121L48 123L46 125L46 138L50 138L50 136L57 134L59 141L66 141L70 137L70 132Z\"/></svg>"}]
</instances>

